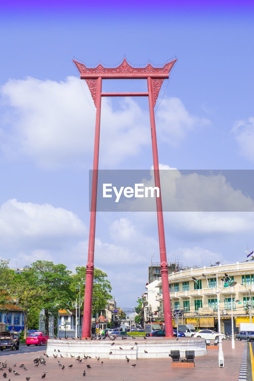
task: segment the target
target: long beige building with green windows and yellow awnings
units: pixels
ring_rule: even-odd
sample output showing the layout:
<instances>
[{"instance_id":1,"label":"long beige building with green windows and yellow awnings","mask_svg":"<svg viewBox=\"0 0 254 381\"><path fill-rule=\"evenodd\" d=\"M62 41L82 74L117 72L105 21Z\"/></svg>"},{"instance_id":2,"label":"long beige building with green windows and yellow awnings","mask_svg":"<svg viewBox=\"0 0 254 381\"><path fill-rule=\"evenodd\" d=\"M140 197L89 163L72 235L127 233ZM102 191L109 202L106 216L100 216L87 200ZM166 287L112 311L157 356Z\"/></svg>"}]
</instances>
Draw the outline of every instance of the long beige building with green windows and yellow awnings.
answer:
<instances>
[{"instance_id":1,"label":"long beige building with green windows and yellow awnings","mask_svg":"<svg viewBox=\"0 0 254 381\"><path fill-rule=\"evenodd\" d=\"M202 274L206 275L204 277ZM225 278L225 274L228 277ZM196 284L193 277L197 279ZM183 310L179 317L180 324L192 324L197 328L214 328L218 326L217 283L222 279L236 282L234 287L223 287L219 290L219 309L222 332L231 333L231 296L233 301L234 330L238 331L240 322L249 323L249 308L254 312L254 260L235 264L189 268L169 274L169 291L172 311ZM230 278L230 279L229 279ZM207 281L209 287L207 285ZM161 280L158 284L157 300L163 311ZM250 298L250 299L249 299ZM239 300L239 302L236 302ZM251 300L251 303L249 302ZM254 319L253 319L254 322ZM174 326L176 320L174 319Z\"/></svg>"}]
</instances>

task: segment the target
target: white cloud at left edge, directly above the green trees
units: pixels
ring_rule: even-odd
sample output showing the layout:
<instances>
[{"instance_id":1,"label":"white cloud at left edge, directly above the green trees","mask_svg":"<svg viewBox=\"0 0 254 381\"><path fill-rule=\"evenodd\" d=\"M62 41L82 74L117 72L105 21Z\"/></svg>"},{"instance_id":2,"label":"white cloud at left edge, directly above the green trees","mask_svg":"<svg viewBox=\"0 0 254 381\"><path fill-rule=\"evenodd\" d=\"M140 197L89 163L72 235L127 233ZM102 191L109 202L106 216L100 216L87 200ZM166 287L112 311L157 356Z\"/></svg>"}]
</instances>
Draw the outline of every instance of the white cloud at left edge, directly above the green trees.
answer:
<instances>
[{"instance_id":1,"label":"white cloud at left edge, directly above the green trees","mask_svg":"<svg viewBox=\"0 0 254 381\"><path fill-rule=\"evenodd\" d=\"M0 243L6 251L12 248L33 251L59 250L68 240L84 236L86 227L71 211L52 205L6 201L0 208Z\"/></svg>"}]
</instances>

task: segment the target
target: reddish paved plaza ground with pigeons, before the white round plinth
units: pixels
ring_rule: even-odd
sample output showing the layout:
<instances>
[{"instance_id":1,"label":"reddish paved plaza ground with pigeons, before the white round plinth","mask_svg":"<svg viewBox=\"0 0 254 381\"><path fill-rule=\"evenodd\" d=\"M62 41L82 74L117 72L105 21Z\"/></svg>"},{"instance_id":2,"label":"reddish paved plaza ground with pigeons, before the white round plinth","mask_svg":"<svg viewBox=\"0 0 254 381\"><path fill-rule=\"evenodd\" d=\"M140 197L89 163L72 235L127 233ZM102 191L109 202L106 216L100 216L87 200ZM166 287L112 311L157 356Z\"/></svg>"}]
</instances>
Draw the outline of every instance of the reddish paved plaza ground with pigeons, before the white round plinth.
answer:
<instances>
[{"instance_id":1,"label":"reddish paved plaza ground with pigeons, before the white round plinth","mask_svg":"<svg viewBox=\"0 0 254 381\"><path fill-rule=\"evenodd\" d=\"M163 338L162 338L163 339ZM122 342L118 339L119 342ZM7 368L18 371L19 375L14 375L6 371L8 381L25 381L26 377L31 377L30 381L40 380L42 375L46 373L45 380L54 381L69 381L69 380L90 380L90 381L238 381L240 365L243 355L245 342L236 341L235 349L231 349L231 341L223 341L224 353L224 368L219 368L218 364L218 350L209 349L208 354L195 358L195 368L172 368L171 358L168 359L137 359L130 360L110 360L110 359L87 359L82 360L81 363L75 359L70 358L46 358L43 353L46 353L44 347L39 352L29 352L19 354L18 352L4 351L1 352L0 361L7 361ZM8 355L7 355L8 352ZM42 355L46 360L46 365L39 365L34 367L33 360ZM87 354L88 355L88 354ZM64 365L64 369L58 365ZM103 361L103 363L101 363ZM13 367L14 363L16 367ZM19 365L24 364L27 371L19 368ZM87 365L90 365L90 369ZM135 367L132 367L136 364ZM71 368L68 366L72 365ZM85 377L83 371L86 371ZM0 379L2 378L0 371Z\"/></svg>"}]
</instances>

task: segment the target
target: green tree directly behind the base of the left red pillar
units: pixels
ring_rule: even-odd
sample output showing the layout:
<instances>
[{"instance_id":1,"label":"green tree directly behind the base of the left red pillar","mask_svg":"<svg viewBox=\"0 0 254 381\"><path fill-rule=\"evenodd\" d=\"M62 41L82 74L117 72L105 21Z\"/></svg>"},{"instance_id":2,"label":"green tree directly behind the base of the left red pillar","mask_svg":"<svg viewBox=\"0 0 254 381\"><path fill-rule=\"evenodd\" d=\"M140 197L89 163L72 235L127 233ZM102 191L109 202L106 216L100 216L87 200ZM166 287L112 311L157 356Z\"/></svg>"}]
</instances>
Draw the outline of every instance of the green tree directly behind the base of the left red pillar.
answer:
<instances>
[{"instance_id":1,"label":"green tree directly behind the base of the left red pillar","mask_svg":"<svg viewBox=\"0 0 254 381\"><path fill-rule=\"evenodd\" d=\"M86 268L84 266L76 267L75 270L76 274L72 275L72 284L70 289L73 293L76 293L75 298L79 300L79 290L76 289L76 285L80 282L80 298L84 299ZM97 312L100 313L100 310L105 309L107 300L112 298L109 294L112 287L109 280L106 279L107 277L108 275L105 272L96 268L94 269L92 314Z\"/></svg>"}]
</instances>

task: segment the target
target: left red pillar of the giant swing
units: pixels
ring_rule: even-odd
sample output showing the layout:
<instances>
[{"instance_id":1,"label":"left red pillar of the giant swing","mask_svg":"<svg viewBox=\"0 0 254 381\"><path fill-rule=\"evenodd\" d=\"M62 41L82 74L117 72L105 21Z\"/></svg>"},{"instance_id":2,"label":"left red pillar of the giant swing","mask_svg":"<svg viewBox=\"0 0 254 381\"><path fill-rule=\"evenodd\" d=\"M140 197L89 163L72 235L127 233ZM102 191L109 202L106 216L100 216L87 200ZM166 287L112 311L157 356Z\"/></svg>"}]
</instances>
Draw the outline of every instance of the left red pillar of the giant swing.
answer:
<instances>
[{"instance_id":1,"label":"left red pillar of the giant swing","mask_svg":"<svg viewBox=\"0 0 254 381\"><path fill-rule=\"evenodd\" d=\"M92 179L92 198L90 212L90 231L88 242L88 260L87 271L85 275L85 301L82 337L90 337L91 335L91 319L92 319L92 300L93 300L93 258L95 243L95 221L96 221L96 200L97 200L97 182L98 182L98 162L99 162L99 145L100 145L100 121L101 121L101 86L102 79L99 77L96 83L96 121L95 121L95 141L93 152L93 179Z\"/></svg>"}]
</instances>

